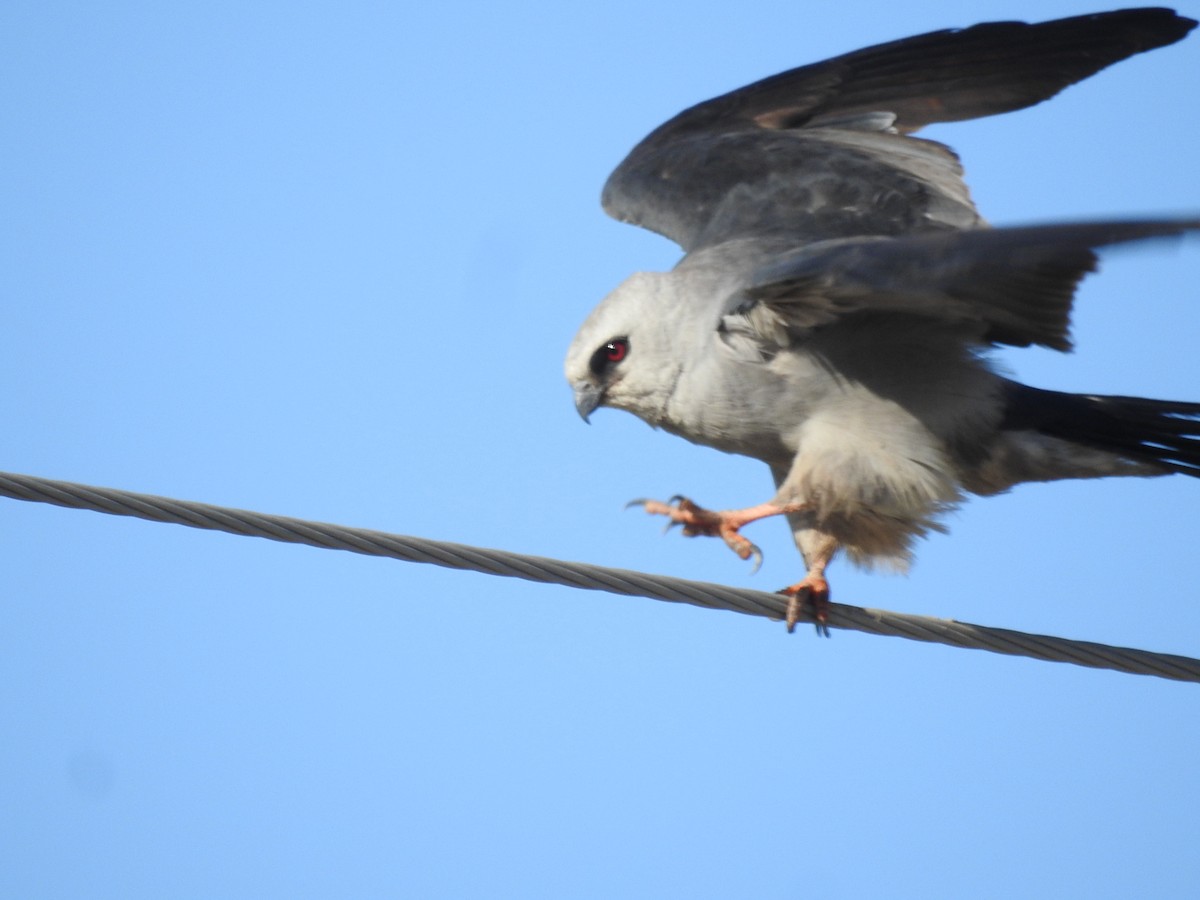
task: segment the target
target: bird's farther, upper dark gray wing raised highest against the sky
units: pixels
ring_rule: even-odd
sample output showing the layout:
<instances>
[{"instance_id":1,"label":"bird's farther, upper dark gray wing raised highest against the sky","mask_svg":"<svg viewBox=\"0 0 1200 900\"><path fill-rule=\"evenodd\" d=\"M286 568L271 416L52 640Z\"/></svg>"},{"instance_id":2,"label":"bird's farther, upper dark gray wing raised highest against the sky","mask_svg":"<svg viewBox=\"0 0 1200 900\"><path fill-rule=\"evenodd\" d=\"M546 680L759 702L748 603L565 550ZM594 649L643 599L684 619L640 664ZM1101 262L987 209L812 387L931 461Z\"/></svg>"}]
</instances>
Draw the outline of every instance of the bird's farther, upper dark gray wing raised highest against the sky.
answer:
<instances>
[{"instance_id":1,"label":"bird's farther, upper dark gray wing raised highest against the sky","mask_svg":"<svg viewBox=\"0 0 1200 900\"><path fill-rule=\"evenodd\" d=\"M989 23L793 68L656 128L612 173L604 208L686 251L970 228L954 154L906 134L1033 106L1195 24L1162 8Z\"/></svg>"}]
</instances>

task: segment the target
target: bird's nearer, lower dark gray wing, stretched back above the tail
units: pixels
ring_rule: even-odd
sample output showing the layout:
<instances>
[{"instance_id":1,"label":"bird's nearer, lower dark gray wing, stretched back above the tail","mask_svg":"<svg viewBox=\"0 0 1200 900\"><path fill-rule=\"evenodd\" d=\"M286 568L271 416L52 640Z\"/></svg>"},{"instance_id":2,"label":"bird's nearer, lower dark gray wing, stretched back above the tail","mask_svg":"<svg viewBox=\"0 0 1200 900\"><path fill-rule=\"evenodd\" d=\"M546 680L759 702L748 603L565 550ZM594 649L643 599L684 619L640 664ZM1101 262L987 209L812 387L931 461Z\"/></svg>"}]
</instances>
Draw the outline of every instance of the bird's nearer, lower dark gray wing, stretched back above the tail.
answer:
<instances>
[{"instance_id":1,"label":"bird's nearer, lower dark gray wing, stretched back above the tail","mask_svg":"<svg viewBox=\"0 0 1200 900\"><path fill-rule=\"evenodd\" d=\"M1200 230L1200 220L980 228L810 245L761 266L721 329L763 349L847 317L973 323L985 343L1070 349L1075 287L1099 247Z\"/></svg>"}]
</instances>

